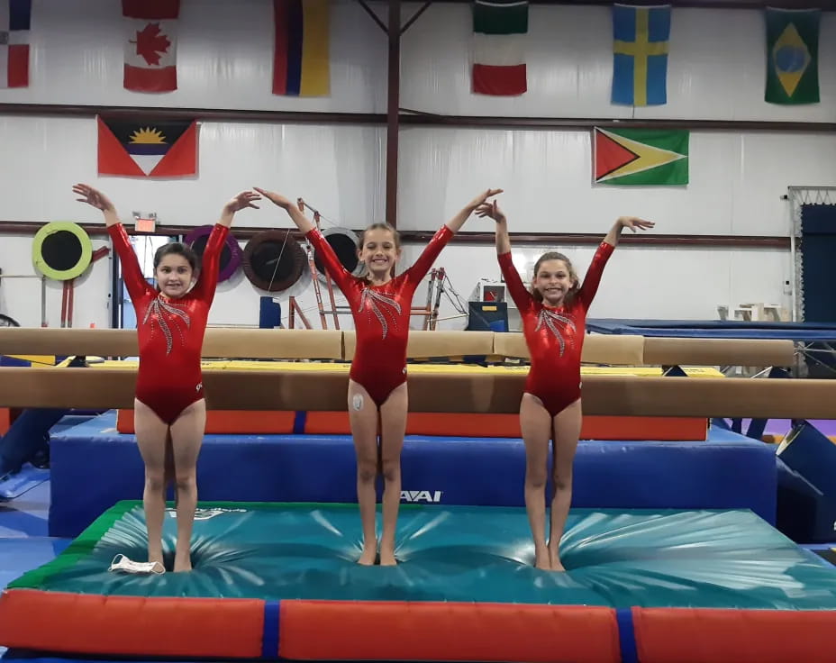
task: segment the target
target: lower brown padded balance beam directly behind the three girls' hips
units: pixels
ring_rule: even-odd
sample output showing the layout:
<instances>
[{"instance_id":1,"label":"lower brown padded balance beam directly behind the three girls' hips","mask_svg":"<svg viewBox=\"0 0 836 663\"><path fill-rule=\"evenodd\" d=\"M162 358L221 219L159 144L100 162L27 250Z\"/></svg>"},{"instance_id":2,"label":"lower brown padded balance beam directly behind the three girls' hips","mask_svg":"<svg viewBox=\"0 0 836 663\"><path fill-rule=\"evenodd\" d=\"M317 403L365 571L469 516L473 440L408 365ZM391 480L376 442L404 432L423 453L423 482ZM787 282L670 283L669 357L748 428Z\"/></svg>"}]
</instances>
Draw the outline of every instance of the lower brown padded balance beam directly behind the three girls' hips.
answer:
<instances>
[{"instance_id":1,"label":"lower brown padded balance beam directly behind the three girls' hips","mask_svg":"<svg viewBox=\"0 0 836 663\"><path fill-rule=\"evenodd\" d=\"M338 370L204 370L213 410L341 411L348 373ZM525 374L419 373L412 412L516 413ZM132 369L0 368L0 407L131 408ZM589 376L584 413L612 416L836 419L836 380Z\"/></svg>"}]
</instances>

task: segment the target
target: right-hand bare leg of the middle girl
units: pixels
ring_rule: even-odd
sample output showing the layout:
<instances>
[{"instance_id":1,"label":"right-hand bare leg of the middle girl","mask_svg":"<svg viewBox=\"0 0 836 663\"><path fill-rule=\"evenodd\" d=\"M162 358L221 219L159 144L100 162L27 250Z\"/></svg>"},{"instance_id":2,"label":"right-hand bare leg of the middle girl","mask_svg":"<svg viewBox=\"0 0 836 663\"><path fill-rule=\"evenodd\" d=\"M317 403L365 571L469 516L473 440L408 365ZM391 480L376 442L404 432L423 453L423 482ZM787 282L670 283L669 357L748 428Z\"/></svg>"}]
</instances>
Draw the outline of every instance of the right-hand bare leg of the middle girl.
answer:
<instances>
[{"instance_id":1,"label":"right-hand bare leg of the middle girl","mask_svg":"<svg viewBox=\"0 0 836 663\"><path fill-rule=\"evenodd\" d=\"M380 406L380 458L383 466L383 536L380 540L380 566L395 566L395 531L401 505L401 450L406 434L409 403L406 383L396 386Z\"/></svg>"}]
</instances>

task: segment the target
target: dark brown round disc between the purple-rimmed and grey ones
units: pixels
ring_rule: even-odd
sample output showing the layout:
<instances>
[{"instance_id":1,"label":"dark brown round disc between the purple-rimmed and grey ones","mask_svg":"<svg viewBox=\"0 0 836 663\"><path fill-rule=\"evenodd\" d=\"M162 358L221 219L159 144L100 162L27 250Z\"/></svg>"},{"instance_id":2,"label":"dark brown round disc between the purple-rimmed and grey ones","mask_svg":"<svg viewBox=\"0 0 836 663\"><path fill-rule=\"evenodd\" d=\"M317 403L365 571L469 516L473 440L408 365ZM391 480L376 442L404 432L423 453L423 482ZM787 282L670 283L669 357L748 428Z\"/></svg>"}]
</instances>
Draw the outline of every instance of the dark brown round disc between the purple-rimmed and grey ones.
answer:
<instances>
[{"instance_id":1,"label":"dark brown round disc between the purple-rimmed and grey ones","mask_svg":"<svg viewBox=\"0 0 836 663\"><path fill-rule=\"evenodd\" d=\"M277 293L295 285L306 262L304 250L287 231L262 231L247 242L242 264L253 286Z\"/></svg>"}]
</instances>

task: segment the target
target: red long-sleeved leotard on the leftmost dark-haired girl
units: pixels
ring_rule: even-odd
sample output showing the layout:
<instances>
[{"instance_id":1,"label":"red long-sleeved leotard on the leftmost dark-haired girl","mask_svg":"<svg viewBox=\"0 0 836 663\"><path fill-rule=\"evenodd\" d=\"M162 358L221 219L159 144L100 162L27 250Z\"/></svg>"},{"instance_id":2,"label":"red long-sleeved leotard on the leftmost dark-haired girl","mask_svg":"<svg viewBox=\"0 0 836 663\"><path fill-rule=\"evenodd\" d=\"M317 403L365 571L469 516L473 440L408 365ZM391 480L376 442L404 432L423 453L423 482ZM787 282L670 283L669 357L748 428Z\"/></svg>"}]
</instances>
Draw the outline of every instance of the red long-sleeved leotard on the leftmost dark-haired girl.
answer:
<instances>
[{"instance_id":1,"label":"red long-sleeved leotard on the leftmost dark-haired girl","mask_svg":"<svg viewBox=\"0 0 836 663\"><path fill-rule=\"evenodd\" d=\"M136 397L170 425L186 407L204 397L201 352L229 228L220 223L214 226L197 283L177 299L168 299L142 276L122 223L108 227L107 232L136 310L140 346Z\"/></svg>"}]
</instances>

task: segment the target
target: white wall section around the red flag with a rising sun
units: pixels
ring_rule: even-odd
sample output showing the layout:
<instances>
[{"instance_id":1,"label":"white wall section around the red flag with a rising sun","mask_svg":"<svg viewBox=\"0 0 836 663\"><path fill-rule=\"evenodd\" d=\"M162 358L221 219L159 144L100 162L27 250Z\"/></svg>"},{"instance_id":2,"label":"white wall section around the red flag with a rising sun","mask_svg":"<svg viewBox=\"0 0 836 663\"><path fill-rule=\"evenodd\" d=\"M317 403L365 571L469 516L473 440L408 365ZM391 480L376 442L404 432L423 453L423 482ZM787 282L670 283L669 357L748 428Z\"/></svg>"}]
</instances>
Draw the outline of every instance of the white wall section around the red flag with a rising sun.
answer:
<instances>
[{"instance_id":1,"label":"white wall section around the red flag with a rising sun","mask_svg":"<svg viewBox=\"0 0 836 663\"><path fill-rule=\"evenodd\" d=\"M0 117L0 144L25 159L0 159L0 219L99 223L74 202L83 181L110 195L123 217L156 212L159 223L213 223L224 202L251 186L303 196L335 221L364 224L385 208L382 130L368 126L202 123L199 174L150 180L97 177L93 118ZM289 226L275 205L242 212L241 225Z\"/></svg>"}]
</instances>

